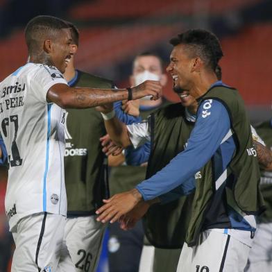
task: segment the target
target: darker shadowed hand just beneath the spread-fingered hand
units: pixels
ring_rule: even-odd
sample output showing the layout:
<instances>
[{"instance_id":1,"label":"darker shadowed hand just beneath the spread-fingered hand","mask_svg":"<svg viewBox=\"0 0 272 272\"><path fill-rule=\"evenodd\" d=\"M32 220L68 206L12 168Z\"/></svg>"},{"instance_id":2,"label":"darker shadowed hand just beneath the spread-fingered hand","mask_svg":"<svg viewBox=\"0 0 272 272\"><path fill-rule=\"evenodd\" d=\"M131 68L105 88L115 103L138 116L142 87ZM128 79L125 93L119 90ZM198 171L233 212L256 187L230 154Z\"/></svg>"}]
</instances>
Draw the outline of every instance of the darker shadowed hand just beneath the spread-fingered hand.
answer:
<instances>
[{"instance_id":1,"label":"darker shadowed hand just beneath the spread-fingered hand","mask_svg":"<svg viewBox=\"0 0 272 272\"><path fill-rule=\"evenodd\" d=\"M130 230L135 227L135 224L139 219L146 214L150 207L150 203L146 201L140 201L130 212L124 214L119 219L120 228L122 230Z\"/></svg>"}]
</instances>

